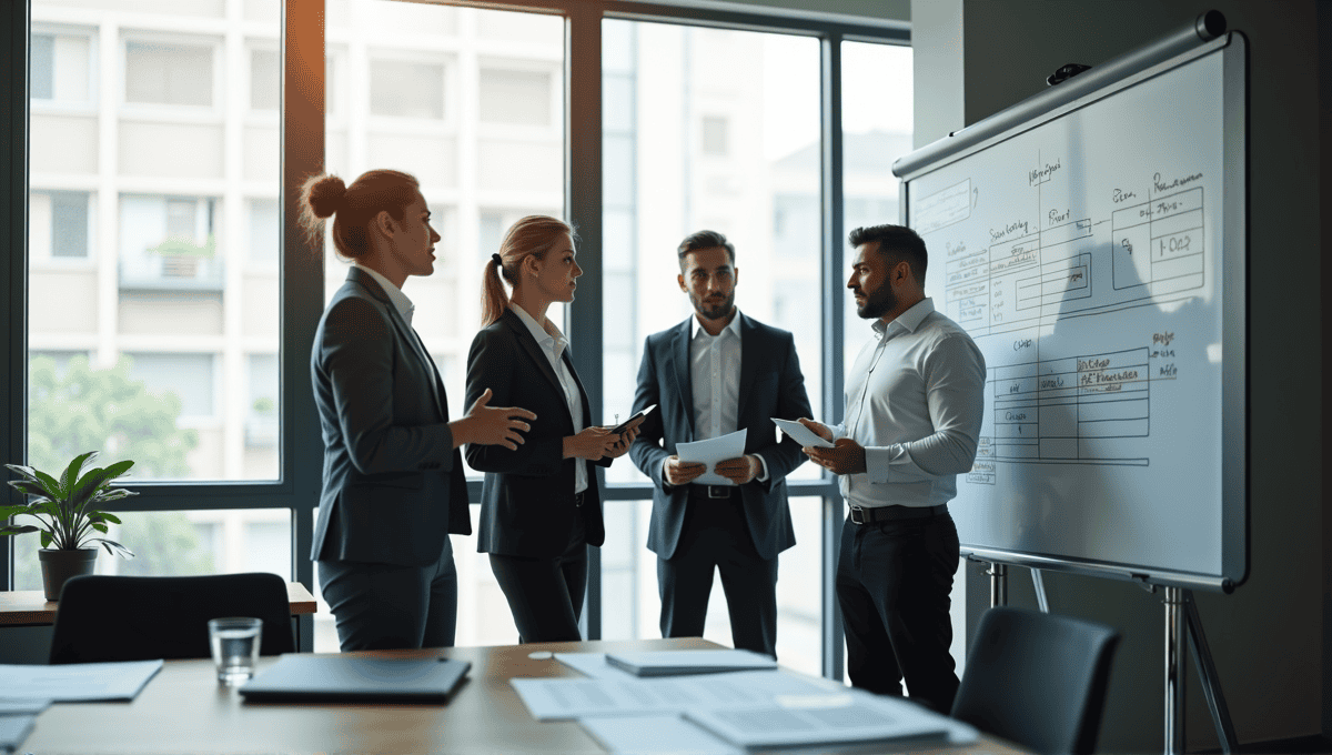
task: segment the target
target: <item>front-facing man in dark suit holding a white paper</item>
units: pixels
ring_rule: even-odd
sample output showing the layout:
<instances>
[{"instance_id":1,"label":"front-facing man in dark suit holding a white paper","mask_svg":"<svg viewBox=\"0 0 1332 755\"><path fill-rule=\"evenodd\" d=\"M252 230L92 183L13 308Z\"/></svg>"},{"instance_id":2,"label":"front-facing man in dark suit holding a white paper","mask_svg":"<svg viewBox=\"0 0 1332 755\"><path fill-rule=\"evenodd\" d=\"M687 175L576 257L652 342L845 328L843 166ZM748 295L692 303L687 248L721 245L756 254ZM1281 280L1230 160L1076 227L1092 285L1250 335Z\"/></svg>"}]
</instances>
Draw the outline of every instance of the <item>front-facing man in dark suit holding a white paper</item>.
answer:
<instances>
[{"instance_id":1,"label":"front-facing man in dark suit holding a white paper","mask_svg":"<svg viewBox=\"0 0 1332 755\"><path fill-rule=\"evenodd\" d=\"M777 554L795 545L786 475L805 462L773 417L810 413L795 340L735 308L735 248L702 230L677 250L694 314L647 337L634 411L651 405L629 453L653 478L647 547L657 553L662 636L702 636L721 571L735 647L777 656ZM721 461L730 485L698 485L702 463L677 443L746 430L745 454Z\"/></svg>"}]
</instances>

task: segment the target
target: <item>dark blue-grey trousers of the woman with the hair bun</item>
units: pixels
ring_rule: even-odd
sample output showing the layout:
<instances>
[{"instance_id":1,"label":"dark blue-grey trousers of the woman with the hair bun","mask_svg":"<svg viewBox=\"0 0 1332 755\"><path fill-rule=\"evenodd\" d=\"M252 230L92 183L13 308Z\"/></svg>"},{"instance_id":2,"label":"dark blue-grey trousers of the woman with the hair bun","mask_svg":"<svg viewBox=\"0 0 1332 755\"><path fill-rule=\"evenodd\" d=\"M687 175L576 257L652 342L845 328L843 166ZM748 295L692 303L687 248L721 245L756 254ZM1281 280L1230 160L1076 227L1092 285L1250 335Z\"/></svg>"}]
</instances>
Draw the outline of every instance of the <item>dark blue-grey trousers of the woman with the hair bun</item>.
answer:
<instances>
[{"instance_id":1,"label":"dark blue-grey trousers of the woman with the hair bun","mask_svg":"<svg viewBox=\"0 0 1332 755\"><path fill-rule=\"evenodd\" d=\"M453 647L458 570L448 537L428 566L320 561L318 567L344 652Z\"/></svg>"}]
</instances>

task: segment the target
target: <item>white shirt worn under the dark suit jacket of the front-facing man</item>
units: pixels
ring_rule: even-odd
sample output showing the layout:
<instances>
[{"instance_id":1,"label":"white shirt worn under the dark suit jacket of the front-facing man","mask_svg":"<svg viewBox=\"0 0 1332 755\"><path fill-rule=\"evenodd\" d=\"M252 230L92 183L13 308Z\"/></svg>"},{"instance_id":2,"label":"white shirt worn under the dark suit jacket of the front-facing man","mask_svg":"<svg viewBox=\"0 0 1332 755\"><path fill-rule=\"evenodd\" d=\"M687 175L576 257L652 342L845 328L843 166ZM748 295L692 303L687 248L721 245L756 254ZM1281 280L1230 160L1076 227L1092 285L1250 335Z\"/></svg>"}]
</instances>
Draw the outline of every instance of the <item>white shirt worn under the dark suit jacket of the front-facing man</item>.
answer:
<instances>
[{"instance_id":1,"label":"white shirt worn under the dark suit jacket of the front-facing man","mask_svg":"<svg viewBox=\"0 0 1332 755\"><path fill-rule=\"evenodd\" d=\"M694 314L689 318L689 381L694 394L694 439L706 441L739 430L741 413L741 310L717 336ZM758 454L755 454L758 455ZM767 479L767 462L758 457L759 474ZM662 469L665 477L665 467Z\"/></svg>"}]
</instances>

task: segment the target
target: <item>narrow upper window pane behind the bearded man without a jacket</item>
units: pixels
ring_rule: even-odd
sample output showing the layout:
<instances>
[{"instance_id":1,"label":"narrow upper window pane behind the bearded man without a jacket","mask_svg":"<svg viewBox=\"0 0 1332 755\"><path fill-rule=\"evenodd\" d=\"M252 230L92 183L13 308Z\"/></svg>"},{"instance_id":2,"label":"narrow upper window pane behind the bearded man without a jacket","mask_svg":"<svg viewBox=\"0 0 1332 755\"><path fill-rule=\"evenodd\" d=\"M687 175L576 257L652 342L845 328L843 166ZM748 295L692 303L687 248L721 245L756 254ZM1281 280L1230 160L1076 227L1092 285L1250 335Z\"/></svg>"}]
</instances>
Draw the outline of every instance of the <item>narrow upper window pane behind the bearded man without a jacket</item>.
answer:
<instances>
[{"instance_id":1,"label":"narrow upper window pane behind the bearded man without a jacket","mask_svg":"<svg viewBox=\"0 0 1332 755\"><path fill-rule=\"evenodd\" d=\"M892 162L911 152L911 48L868 43L842 44L842 162L843 228L900 222L898 178ZM843 240L844 244L844 240ZM851 274L851 248L843 246ZM855 314L855 300L844 296L843 358L847 369L870 338L870 326ZM926 294L928 296L928 290ZM842 407L836 415L840 418Z\"/></svg>"}]
</instances>

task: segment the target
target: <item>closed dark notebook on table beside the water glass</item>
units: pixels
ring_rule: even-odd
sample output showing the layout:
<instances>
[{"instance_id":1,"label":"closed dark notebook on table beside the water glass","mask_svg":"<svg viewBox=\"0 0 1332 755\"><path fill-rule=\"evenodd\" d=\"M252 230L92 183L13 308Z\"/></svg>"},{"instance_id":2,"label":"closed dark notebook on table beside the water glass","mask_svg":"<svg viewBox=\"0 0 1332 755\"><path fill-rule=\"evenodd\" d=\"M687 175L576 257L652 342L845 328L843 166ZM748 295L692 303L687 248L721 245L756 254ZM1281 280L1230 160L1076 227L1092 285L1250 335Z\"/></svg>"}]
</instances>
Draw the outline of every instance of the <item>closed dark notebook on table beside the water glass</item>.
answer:
<instances>
[{"instance_id":1,"label":"closed dark notebook on table beside the water glass","mask_svg":"<svg viewBox=\"0 0 1332 755\"><path fill-rule=\"evenodd\" d=\"M472 668L452 658L369 658L289 654L238 691L246 700L445 703Z\"/></svg>"}]
</instances>

